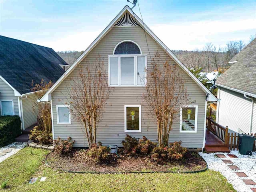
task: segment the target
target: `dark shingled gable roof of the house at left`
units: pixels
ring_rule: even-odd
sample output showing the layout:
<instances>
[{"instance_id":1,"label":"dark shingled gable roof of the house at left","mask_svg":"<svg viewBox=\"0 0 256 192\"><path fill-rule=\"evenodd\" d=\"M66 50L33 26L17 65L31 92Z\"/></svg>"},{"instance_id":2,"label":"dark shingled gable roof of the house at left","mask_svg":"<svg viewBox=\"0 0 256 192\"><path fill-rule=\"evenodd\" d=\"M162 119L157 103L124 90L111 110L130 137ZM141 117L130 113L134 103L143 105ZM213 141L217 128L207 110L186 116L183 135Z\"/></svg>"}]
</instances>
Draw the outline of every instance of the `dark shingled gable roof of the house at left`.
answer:
<instances>
[{"instance_id":1,"label":"dark shingled gable roof of the house at left","mask_svg":"<svg viewBox=\"0 0 256 192\"><path fill-rule=\"evenodd\" d=\"M52 48L4 36L0 44L0 78L16 96L31 92L32 80L55 83L65 72L59 65L68 65Z\"/></svg>"}]
</instances>

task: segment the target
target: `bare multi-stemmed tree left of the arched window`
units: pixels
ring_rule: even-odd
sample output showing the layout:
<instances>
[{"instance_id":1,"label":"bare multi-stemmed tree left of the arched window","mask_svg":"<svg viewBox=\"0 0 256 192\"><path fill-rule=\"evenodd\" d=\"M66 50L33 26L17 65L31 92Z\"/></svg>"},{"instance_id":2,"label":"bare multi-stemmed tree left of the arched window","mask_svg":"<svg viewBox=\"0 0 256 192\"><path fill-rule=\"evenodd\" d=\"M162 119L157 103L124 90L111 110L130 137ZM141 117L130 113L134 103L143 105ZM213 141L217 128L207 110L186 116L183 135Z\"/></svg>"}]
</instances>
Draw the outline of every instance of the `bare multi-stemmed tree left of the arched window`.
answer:
<instances>
[{"instance_id":1,"label":"bare multi-stemmed tree left of the arched window","mask_svg":"<svg viewBox=\"0 0 256 192\"><path fill-rule=\"evenodd\" d=\"M90 148L96 143L98 124L112 90L103 66L102 59L97 58L95 64L88 63L85 68L80 68L78 77L71 78L70 86L67 86L70 111L73 118L83 124Z\"/></svg>"}]
</instances>

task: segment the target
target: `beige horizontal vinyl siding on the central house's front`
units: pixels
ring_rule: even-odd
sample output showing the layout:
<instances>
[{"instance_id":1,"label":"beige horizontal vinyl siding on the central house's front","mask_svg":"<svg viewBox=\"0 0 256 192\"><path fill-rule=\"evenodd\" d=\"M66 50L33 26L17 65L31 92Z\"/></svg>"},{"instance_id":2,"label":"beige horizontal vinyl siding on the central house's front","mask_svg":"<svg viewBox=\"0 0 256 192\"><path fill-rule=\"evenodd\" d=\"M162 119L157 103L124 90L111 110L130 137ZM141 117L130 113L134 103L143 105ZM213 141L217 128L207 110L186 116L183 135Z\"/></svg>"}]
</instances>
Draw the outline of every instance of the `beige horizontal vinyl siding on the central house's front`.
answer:
<instances>
[{"instance_id":1,"label":"beige horizontal vinyl siding on the central house's front","mask_svg":"<svg viewBox=\"0 0 256 192\"><path fill-rule=\"evenodd\" d=\"M170 63L177 66L186 83L186 88L191 100L195 100L193 105L198 105L198 126L197 133L180 133L179 118L173 125L170 133L170 141L182 140L182 145L189 148L202 148L204 136L204 115L205 115L205 99L204 91L192 80L179 66L166 54L166 52L153 40L148 34L147 41L151 57L154 57L156 51L159 51L163 61L170 60ZM94 49L82 60L82 62L71 72L69 77L75 78L78 74L79 67L92 65L98 55L104 58L104 68L108 71L108 55L113 54L113 50L119 42L123 40L132 40L136 42L142 54L148 55L148 69L152 68L150 54L148 52L145 40L144 30L141 27L114 27L102 38L102 40L94 47ZM52 93L52 110L54 124L54 138L67 138L71 136L75 140L74 146L88 146L86 137L84 136L83 126L72 118L71 124L57 124L56 105L64 105L68 102L66 98L67 87L70 80L66 78ZM110 98L106 104L104 118L98 126L97 141L101 141L104 145L115 144L122 146L121 141L124 140L126 134L142 138L146 136L152 141L157 141L156 119L146 114L145 107L142 106L142 132L124 132L124 105L140 105L142 104L142 87L115 87L114 92L110 94ZM60 101L58 101L60 100Z\"/></svg>"}]
</instances>

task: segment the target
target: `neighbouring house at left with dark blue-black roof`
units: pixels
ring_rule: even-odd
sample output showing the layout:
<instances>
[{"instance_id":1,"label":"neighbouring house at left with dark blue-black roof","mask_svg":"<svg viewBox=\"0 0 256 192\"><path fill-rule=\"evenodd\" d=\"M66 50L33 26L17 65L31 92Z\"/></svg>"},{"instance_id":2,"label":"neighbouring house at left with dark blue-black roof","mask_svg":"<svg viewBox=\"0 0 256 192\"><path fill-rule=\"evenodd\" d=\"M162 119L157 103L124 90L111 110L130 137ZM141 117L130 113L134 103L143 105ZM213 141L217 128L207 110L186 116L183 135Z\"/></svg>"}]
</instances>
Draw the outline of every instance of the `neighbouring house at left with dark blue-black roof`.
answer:
<instances>
[{"instance_id":1,"label":"neighbouring house at left with dark blue-black roof","mask_svg":"<svg viewBox=\"0 0 256 192\"><path fill-rule=\"evenodd\" d=\"M55 83L68 65L54 50L0 36L0 115L18 115L22 130L37 122L31 88L42 78Z\"/></svg>"}]
</instances>

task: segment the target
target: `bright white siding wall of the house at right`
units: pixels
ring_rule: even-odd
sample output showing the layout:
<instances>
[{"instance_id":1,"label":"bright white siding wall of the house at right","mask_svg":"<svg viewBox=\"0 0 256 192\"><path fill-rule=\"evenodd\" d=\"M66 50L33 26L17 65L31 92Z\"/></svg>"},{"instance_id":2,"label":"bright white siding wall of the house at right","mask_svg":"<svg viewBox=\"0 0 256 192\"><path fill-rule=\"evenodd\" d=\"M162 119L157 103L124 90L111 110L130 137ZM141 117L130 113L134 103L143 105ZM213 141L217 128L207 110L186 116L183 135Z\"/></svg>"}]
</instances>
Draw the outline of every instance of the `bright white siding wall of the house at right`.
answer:
<instances>
[{"instance_id":1,"label":"bright white siding wall of the house at right","mask_svg":"<svg viewBox=\"0 0 256 192\"><path fill-rule=\"evenodd\" d=\"M219 89L219 88L218 88ZM250 131L251 100L225 88L219 90L218 123L234 132Z\"/></svg>"}]
</instances>

